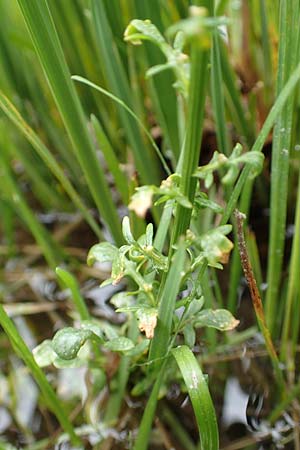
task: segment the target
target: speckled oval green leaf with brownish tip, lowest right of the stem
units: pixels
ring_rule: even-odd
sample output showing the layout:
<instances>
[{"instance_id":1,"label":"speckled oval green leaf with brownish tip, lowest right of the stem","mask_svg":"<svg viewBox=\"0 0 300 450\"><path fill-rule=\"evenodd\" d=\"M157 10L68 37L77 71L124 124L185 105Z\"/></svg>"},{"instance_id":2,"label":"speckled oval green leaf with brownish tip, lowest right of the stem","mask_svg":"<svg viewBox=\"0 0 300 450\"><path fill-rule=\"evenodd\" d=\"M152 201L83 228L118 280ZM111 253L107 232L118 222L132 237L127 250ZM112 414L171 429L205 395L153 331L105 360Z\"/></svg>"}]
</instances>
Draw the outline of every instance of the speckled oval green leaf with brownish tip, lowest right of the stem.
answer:
<instances>
[{"instance_id":1,"label":"speckled oval green leaf with brownish tip, lowest right of the stem","mask_svg":"<svg viewBox=\"0 0 300 450\"><path fill-rule=\"evenodd\" d=\"M227 309L203 309L194 320L196 328L210 327L220 331L233 330L239 323Z\"/></svg>"}]
</instances>

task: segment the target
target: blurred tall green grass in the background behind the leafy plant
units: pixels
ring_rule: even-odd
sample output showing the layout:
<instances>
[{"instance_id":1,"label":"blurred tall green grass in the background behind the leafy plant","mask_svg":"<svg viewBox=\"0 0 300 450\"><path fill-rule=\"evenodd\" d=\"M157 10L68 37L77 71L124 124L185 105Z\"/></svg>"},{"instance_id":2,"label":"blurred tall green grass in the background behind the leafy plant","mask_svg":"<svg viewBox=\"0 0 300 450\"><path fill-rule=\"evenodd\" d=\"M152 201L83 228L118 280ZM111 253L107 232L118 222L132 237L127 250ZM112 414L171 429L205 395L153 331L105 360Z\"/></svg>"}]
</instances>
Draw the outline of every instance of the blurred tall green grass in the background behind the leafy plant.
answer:
<instances>
[{"instance_id":1,"label":"blurred tall green grass in the background behind the leafy plant","mask_svg":"<svg viewBox=\"0 0 300 450\"><path fill-rule=\"evenodd\" d=\"M40 273L48 285L54 275L40 256L51 269L67 264L85 286L95 275L84 267L89 247L107 236L121 245L121 217L134 188L159 185L167 176L139 123L120 104L71 81L70 75L89 79L133 110L175 171L187 105L172 86L171 70L145 78L150 67L165 62L160 51L147 42L128 45L123 33L136 18L150 19L164 33L187 17L189 5L187 0L0 0L1 296L8 307L19 303L21 316L26 312L20 305L32 297L40 302L40 314L47 309L45 292L32 280ZM201 165L216 149L230 155L236 142L245 150L252 148L299 62L298 0L220 0L214 7L230 24L213 35ZM30 28L35 46L21 10L29 24L34 18ZM246 181L238 204L252 229L248 249L291 386L298 377L300 327L299 129L297 87L267 138L262 174L254 185ZM217 201L223 188L215 181L208 194ZM228 201L231 192L222 193ZM151 210L156 225L160 213L156 207ZM145 221L130 214L137 237ZM215 225L210 210L204 210L199 232ZM247 331L252 322L240 316L243 283L237 246L224 274L210 270L203 289L212 306L228 307L244 320ZM55 324L74 316L70 304L61 313L57 298L55 302L47 313L49 331L30 330L33 341L40 342ZM17 324L23 333L28 329ZM205 342L204 353L217 355L226 338L219 340L209 330ZM13 378L19 362L9 355L4 334L0 345L3 370ZM44 411L43 403L40 408ZM72 410L72 403L68 408ZM33 440L28 424L14 421Z\"/></svg>"}]
</instances>

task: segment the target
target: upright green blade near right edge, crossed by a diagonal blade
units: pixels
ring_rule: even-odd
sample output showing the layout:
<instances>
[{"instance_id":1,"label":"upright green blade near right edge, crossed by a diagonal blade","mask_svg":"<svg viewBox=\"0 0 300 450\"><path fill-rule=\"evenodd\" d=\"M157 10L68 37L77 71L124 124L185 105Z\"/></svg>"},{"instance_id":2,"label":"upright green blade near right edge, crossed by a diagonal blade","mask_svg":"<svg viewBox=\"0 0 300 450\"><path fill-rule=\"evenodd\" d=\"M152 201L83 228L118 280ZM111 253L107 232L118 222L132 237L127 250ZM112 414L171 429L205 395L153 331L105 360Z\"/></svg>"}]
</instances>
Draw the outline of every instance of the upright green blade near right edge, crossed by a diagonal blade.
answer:
<instances>
[{"instance_id":1,"label":"upright green blade near right edge, crossed by a diagonal blade","mask_svg":"<svg viewBox=\"0 0 300 450\"><path fill-rule=\"evenodd\" d=\"M280 47L277 95L296 66L299 40L299 0L280 2ZM288 199L289 156L293 123L294 96L290 96L277 117L274 128L271 167L270 239L268 254L266 318L271 333L275 317L283 264Z\"/></svg>"}]
</instances>

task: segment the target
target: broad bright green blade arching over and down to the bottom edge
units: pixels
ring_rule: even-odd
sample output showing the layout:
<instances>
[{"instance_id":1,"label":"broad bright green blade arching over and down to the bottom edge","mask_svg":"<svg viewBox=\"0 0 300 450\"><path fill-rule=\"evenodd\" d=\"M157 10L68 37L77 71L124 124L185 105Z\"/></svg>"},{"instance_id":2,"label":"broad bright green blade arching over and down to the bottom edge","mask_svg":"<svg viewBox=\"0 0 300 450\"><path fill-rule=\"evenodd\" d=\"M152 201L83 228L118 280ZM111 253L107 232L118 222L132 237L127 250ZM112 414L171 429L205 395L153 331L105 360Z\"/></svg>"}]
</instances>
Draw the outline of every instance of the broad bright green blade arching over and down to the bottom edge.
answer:
<instances>
[{"instance_id":1,"label":"broad bright green blade arching over and down to the bottom edge","mask_svg":"<svg viewBox=\"0 0 300 450\"><path fill-rule=\"evenodd\" d=\"M219 450L219 433L215 409L202 370L185 345L172 350L187 387L199 428L201 448Z\"/></svg>"}]
</instances>

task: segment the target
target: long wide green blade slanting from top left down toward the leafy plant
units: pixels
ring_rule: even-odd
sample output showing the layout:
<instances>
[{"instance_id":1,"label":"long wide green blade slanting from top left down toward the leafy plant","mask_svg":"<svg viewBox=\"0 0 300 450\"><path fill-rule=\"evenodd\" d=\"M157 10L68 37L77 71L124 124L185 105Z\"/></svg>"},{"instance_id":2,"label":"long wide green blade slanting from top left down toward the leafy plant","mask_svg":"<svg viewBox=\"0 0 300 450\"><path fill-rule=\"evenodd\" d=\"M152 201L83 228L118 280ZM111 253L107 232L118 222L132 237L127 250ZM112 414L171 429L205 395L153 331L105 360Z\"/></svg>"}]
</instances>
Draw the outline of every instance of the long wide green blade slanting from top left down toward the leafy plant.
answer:
<instances>
[{"instance_id":1,"label":"long wide green blade slanting from top left down toward the leafy plant","mask_svg":"<svg viewBox=\"0 0 300 450\"><path fill-rule=\"evenodd\" d=\"M94 201L114 239L121 244L120 220L87 132L83 110L71 82L47 2L18 0L18 4Z\"/></svg>"}]
</instances>

